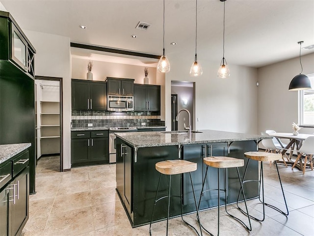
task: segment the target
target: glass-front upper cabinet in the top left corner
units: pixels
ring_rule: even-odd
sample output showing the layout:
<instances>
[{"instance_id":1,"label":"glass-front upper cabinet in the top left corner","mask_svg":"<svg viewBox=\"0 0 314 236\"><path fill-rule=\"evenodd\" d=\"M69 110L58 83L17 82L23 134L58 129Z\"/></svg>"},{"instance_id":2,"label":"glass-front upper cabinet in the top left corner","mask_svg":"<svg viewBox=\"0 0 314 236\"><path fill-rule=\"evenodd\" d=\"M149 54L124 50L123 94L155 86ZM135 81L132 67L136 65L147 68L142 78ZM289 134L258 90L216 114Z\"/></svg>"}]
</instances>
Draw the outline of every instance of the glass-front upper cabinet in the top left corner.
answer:
<instances>
[{"instance_id":1,"label":"glass-front upper cabinet in the top left corner","mask_svg":"<svg viewBox=\"0 0 314 236\"><path fill-rule=\"evenodd\" d=\"M22 29L8 12L0 11L0 59L12 62L34 77L34 54Z\"/></svg>"}]
</instances>

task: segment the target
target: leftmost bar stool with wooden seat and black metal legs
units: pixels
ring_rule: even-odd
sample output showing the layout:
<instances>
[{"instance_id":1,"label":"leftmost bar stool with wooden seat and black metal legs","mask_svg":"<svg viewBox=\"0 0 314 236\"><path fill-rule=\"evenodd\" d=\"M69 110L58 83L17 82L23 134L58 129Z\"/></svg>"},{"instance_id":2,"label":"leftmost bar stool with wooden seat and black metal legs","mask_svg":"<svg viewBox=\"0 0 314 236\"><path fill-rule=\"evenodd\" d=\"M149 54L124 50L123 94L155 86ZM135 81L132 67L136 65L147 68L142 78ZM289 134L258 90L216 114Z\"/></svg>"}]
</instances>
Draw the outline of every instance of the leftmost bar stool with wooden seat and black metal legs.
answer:
<instances>
[{"instance_id":1,"label":"leftmost bar stool with wooden seat and black metal legs","mask_svg":"<svg viewBox=\"0 0 314 236\"><path fill-rule=\"evenodd\" d=\"M196 207L196 212L197 212L197 218L198 217L198 208L197 208L197 203L196 203L196 198L195 198L195 192L194 192L194 185L193 185L193 181L192 181L192 176L191 176L191 172L196 171L197 169L197 164L194 162L190 162L190 161L186 161L186 160L166 160L166 161L160 161L157 162L156 165L156 170L160 173L159 175L159 180L158 180L158 185L157 185L157 191L156 191L156 195L155 195L155 200L154 200L154 207L153 207L153 212L152 212L152 217L151 217L151 222L149 225L149 234L150 236L152 236L151 233L151 226L152 226L152 221L153 221L153 215L154 215L154 209L156 206L156 203L161 200L164 199L166 197L168 197L168 215L167 215L167 235L168 235L168 222L169 222L169 212L170 212L170 190L171 190L171 176L172 175L177 175L177 174L183 174L183 173L189 173L190 176L190 180L191 180L191 184L192 184L192 191L193 191L193 196L194 196L194 202L195 202L195 207ZM168 196L163 196L159 199L157 199L157 195L158 195L158 190L159 190L159 185L160 185L160 178L161 175L168 175L169 176L169 193ZM195 232L197 233L197 235L199 236L199 233L197 232L197 230L190 225L189 223L187 223L184 219L183 219L183 206L182 206L182 196L183 196L183 191L182 191L182 175L180 175L180 196L171 196L171 197L179 197L180 198L180 202L181 202L181 218L183 220L183 222L185 224L187 224L188 226L192 227ZM199 220L198 220L199 221ZM202 229L200 226L200 230L201 230L201 235L202 235Z\"/></svg>"}]
</instances>

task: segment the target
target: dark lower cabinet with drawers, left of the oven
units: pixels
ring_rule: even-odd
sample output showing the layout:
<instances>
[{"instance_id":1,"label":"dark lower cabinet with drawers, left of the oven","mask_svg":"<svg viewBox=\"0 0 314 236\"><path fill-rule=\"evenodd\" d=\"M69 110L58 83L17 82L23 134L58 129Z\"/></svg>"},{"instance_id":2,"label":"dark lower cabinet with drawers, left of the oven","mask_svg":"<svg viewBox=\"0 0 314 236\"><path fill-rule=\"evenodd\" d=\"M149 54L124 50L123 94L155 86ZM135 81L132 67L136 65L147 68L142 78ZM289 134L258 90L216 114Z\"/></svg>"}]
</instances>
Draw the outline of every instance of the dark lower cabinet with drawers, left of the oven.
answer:
<instances>
[{"instance_id":1,"label":"dark lower cabinet with drawers, left of the oven","mask_svg":"<svg viewBox=\"0 0 314 236\"><path fill-rule=\"evenodd\" d=\"M72 131L71 166L109 163L108 130Z\"/></svg>"}]
</instances>

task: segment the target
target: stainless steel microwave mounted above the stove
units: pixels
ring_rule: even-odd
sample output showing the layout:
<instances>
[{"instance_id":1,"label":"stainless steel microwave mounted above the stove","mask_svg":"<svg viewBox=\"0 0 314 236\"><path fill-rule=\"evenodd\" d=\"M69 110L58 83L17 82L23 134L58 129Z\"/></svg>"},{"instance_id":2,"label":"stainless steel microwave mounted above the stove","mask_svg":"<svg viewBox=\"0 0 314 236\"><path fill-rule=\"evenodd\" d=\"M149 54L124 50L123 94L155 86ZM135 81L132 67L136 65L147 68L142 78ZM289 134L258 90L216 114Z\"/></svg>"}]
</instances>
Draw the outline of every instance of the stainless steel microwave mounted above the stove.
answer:
<instances>
[{"instance_id":1,"label":"stainless steel microwave mounted above the stove","mask_svg":"<svg viewBox=\"0 0 314 236\"><path fill-rule=\"evenodd\" d=\"M134 111L132 96L108 96L107 110L114 112L128 112Z\"/></svg>"}]
</instances>

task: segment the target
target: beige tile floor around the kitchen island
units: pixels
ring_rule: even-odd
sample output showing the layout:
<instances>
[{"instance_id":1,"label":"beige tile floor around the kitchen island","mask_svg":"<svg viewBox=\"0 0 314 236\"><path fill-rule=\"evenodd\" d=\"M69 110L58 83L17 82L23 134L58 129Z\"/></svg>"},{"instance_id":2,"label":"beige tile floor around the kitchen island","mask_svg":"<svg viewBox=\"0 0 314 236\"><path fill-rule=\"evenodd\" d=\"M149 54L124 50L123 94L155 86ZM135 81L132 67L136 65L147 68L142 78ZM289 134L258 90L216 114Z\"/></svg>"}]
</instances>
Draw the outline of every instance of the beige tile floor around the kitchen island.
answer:
<instances>
[{"instance_id":1,"label":"beige tile floor around the kitchen island","mask_svg":"<svg viewBox=\"0 0 314 236\"><path fill-rule=\"evenodd\" d=\"M73 168L58 172L59 157L43 157L36 167L36 194L29 197L29 219L22 236L148 236L149 226L132 229L115 192L115 165ZM298 169L279 165L288 202L288 217L266 207L264 222L252 220L252 232L226 216L221 208L221 236L313 236L314 235L314 171L305 175ZM266 200L282 204L275 166L264 163ZM248 202L250 213L261 216L258 200ZM228 209L246 220L234 205ZM214 235L217 209L200 212L202 224ZM195 214L185 219L196 226ZM195 235L179 218L170 220L169 235ZM165 235L165 221L152 225L154 236ZM208 235L203 232L203 235Z\"/></svg>"}]
</instances>

